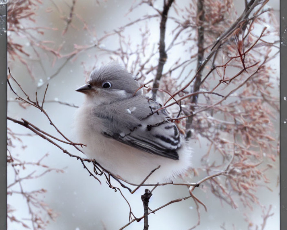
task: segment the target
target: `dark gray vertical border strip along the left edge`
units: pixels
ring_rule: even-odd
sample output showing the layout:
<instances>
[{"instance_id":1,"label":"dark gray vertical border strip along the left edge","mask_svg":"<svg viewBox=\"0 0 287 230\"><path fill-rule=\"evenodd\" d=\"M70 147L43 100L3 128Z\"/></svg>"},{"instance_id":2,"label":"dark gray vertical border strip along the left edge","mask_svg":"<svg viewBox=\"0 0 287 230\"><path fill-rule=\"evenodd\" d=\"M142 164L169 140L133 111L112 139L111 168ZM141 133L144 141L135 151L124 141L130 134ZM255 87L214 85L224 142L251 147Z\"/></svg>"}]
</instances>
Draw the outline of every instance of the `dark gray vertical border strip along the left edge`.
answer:
<instances>
[{"instance_id":1,"label":"dark gray vertical border strip along the left edge","mask_svg":"<svg viewBox=\"0 0 287 230\"><path fill-rule=\"evenodd\" d=\"M7 229L7 1L0 1L0 228ZM6 150L6 151L5 151Z\"/></svg>"}]
</instances>

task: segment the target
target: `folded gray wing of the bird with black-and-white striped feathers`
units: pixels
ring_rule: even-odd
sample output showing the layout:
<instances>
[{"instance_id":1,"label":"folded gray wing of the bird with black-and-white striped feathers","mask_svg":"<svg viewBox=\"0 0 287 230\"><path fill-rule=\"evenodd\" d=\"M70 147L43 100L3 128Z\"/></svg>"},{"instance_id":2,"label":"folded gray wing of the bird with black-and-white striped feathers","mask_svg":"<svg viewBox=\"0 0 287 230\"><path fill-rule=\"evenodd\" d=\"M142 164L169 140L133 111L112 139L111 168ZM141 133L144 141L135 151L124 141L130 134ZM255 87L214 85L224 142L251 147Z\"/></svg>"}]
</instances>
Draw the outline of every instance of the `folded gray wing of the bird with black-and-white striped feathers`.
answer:
<instances>
[{"instance_id":1,"label":"folded gray wing of the bird with black-and-white striped feathers","mask_svg":"<svg viewBox=\"0 0 287 230\"><path fill-rule=\"evenodd\" d=\"M107 137L146 152L178 160L181 136L165 110L144 96L132 97L108 105L97 106L93 112L102 120L102 133Z\"/></svg>"}]
</instances>

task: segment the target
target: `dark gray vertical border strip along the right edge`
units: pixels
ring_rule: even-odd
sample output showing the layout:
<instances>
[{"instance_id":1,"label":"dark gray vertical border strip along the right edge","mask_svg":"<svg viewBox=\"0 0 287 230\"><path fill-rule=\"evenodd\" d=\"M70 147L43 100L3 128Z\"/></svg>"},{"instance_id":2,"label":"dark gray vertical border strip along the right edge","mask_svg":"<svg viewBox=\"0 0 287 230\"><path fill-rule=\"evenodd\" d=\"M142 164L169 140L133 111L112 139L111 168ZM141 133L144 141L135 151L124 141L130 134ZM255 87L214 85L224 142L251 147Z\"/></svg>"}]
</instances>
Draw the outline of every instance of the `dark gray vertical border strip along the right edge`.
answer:
<instances>
[{"instance_id":1,"label":"dark gray vertical border strip along the right edge","mask_svg":"<svg viewBox=\"0 0 287 230\"><path fill-rule=\"evenodd\" d=\"M280 229L287 229L287 1L280 0Z\"/></svg>"}]
</instances>

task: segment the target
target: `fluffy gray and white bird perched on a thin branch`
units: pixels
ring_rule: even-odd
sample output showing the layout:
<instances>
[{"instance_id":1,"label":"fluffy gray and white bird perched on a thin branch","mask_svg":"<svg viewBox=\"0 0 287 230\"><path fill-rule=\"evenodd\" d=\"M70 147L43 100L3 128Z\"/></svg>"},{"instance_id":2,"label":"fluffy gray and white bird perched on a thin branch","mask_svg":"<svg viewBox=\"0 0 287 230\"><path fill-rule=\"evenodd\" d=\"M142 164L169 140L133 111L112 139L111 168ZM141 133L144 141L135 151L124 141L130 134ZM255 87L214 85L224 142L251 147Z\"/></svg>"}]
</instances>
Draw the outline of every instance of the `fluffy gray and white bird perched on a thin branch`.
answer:
<instances>
[{"instance_id":1,"label":"fluffy gray and white bird perched on a thin branch","mask_svg":"<svg viewBox=\"0 0 287 230\"><path fill-rule=\"evenodd\" d=\"M192 149L167 110L120 64L95 68L75 91L85 95L74 116L75 138L88 158L117 178L167 183L191 168Z\"/></svg>"}]
</instances>

